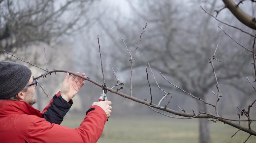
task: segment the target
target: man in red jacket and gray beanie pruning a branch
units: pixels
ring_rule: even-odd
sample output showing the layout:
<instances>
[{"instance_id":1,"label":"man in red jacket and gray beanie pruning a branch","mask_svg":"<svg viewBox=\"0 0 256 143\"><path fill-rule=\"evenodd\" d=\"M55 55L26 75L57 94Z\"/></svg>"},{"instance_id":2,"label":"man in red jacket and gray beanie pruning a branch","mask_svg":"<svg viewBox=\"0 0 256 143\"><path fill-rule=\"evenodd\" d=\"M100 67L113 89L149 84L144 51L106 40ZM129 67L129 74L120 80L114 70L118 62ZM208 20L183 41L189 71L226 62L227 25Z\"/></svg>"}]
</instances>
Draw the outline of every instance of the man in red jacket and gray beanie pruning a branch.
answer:
<instances>
[{"instance_id":1,"label":"man in red jacket and gray beanie pruning a branch","mask_svg":"<svg viewBox=\"0 0 256 143\"><path fill-rule=\"evenodd\" d=\"M59 125L84 84L84 79L67 73L60 92L40 113L31 106L36 103L37 85L31 70L15 62L0 62L0 142L97 142L111 114L110 101L94 102L78 128Z\"/></svg>"}]
</instances>

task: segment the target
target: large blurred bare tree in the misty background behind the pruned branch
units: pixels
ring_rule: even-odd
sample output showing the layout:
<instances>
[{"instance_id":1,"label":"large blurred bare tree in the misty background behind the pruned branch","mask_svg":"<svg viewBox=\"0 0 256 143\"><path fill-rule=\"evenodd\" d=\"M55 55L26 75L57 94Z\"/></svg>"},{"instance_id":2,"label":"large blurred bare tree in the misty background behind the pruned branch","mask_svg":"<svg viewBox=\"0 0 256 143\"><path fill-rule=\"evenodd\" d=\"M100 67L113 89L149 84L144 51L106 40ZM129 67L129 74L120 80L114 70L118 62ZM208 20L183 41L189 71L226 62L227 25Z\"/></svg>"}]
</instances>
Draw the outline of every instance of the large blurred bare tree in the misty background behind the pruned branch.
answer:
<instances>
[{"instance_id":1,"label":"large blurred bare tree in the misty background behind the pruned branch","mask_svg":"<svg viewBox=\"0 0 256 143\"><path fill-rule=\"evenodd\" d=\"M253 74L253 70L248 70L253 69L248 64L251 61L251 56L239 48L234 49L236 44L231 43L230 39L224 36L224 33L216 26L214 19L205 14L199 6L195 6L198 5L197 2L186 1L189 4L170 0L127 2L136 16L128 17L129 22L127 20L124 23L118 22L120 20L113 20L117 32L110 31L112 29L107 28L109 27L107 23L101 23L114 44L118 45L116 51L120 54L115 52L112 56L115 57L114 59L118 59L119 63L115 64L120 64L120 59L123 60L120 65L123 71L130 70L130 65L126 58L118 57L118 55L123 57L127 52L125 48L120 48L124 47L123 42L116 37L124 36L126 45L131 49L137 42L137 39L134 38L136 37L135 31L140 31L140 27L134 25L148 23L147 32L143 35L144 40L137 50L133 68L141 69L150 63L152 68L175 80L179 87L207 101L206 95L211 93L216 85L207 58L214 53L218 38L221 36L221 48L216 53L217 59L220 59L221 62L215 63L218 81L234 83L233 80L241 80L241 78ZM200 4L209 13L214 13L214 10L223 5L217 0L207 3L200 2ZM183 9L186 9L187 12L184 12ZM225 15L221 18L230 20ZM126 30L125 27L133 27L133 29ZM239 42L245 47L252 46L254 38L244 36L240 31L228 32L231 32L236 39L240 39ZM116 33L119 33L119 36L116 36ZM235 84L240 89L244 89L241 87L242 85ZM136 84L136 86L140 86L140 84ZM221 94L223 93L221 92ZM203 102L197 103L198 111L211 111ZM210 142L210 133L207 119L199 120L200 143L208 143Z\"/></svg>"}]
</instances>

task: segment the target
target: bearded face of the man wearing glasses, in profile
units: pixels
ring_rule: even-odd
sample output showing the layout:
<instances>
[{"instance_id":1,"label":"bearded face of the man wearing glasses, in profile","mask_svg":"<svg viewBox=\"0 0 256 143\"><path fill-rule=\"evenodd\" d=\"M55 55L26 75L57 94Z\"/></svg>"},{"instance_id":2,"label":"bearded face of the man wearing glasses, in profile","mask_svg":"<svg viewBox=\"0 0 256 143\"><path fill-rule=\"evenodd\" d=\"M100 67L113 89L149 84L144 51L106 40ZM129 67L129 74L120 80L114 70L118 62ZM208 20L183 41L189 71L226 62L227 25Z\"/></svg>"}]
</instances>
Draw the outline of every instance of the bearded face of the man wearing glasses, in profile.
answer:
<instances>
[{"instance_id":1,"label":"bearded face of the man wearing glasses, in profile","mask_svg":"<svg viewBox=\"0 0 256 143\"><path fill-rule=\"evenodd\" d=\"M32 76L29 79L29 84L31 84L31 83L33 83ZM29 86L25 92L23 92L23 94L24 94L23 101L28 103L29 105L33 105L36 103L35 88L36 88L36 86L32 85L32 86Z\"/></svg>"}]
</instances>

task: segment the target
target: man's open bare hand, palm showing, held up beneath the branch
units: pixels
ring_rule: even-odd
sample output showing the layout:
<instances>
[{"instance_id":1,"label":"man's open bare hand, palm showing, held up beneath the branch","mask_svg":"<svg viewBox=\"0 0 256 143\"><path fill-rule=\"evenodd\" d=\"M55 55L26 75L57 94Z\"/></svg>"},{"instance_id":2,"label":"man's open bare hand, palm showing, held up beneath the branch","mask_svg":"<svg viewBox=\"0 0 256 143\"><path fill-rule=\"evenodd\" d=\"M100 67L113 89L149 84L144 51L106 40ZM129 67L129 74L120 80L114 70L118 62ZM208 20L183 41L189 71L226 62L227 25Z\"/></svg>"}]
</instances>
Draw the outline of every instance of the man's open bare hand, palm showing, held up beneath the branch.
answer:
<instances>
[{"instance_id":1,"label":"man's open bare hand, palm showing, held up beneath the branch","mask_svg":"<svg viewBox=\"0 0 256 143\"><path fill-rule=\"evenodd\" d=\"M76 74L79 75L79 72L76 72ZM81 76L85 77L85 73L81 74ZM83 85L85 85L84 79L76 77L74 75L69 77L69 73L67 73L64 81L62 82L60 94L63 99L69 102L70 99L77 94L77 92Z\"/></svg>"}]
</instances>

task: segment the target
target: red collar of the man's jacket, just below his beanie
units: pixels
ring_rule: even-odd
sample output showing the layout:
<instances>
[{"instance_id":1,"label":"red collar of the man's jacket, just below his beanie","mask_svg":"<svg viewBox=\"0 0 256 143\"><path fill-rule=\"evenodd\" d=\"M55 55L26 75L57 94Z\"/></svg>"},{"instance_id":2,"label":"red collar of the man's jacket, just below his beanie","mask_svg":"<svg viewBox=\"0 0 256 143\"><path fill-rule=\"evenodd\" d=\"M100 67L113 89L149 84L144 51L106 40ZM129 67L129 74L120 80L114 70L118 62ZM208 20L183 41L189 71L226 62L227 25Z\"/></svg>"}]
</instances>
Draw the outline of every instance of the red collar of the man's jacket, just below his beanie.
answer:
<instances>
[{"instance_id":1,"label":"red collar of the man's jacket, just below his beanie","mask_svg":"<svg viewBox=\"0 0 256 143\"><path fill-rule=\"evenodd\" d=\"M9 114L28 114L42 117L42 113L39 110L33 108L24 101L11 101L0 99L0 115Z\"/></svg>"}]
</instances>

